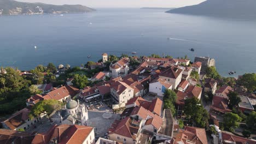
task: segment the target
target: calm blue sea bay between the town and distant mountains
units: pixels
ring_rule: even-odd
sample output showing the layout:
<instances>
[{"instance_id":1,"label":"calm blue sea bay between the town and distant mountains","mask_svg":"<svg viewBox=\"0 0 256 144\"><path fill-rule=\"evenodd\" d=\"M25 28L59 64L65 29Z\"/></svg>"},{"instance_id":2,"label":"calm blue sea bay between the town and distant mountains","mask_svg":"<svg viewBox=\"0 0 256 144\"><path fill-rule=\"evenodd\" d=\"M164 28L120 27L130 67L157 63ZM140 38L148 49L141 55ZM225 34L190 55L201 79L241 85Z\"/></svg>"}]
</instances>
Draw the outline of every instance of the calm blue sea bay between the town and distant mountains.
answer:
<instances>
[{"instance_id":1,"label":"calm blue sea bay between the town and distant mountains","mask_svg":"<svg viewBox=\"0 0 256 144\"><path fill-rule=\"evenodd\" d=\"M256 72L255 20L164 12L98 8L84 14L0 16L0 66L30 70L53 62L74 67L98 61L105 52L132 56L136 51L137 56L187 55L191 61L211 57L222 76Z\"/></svg>"}]
</instances>

